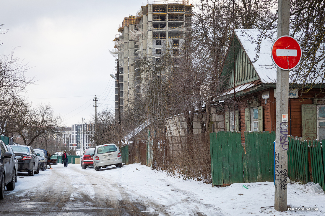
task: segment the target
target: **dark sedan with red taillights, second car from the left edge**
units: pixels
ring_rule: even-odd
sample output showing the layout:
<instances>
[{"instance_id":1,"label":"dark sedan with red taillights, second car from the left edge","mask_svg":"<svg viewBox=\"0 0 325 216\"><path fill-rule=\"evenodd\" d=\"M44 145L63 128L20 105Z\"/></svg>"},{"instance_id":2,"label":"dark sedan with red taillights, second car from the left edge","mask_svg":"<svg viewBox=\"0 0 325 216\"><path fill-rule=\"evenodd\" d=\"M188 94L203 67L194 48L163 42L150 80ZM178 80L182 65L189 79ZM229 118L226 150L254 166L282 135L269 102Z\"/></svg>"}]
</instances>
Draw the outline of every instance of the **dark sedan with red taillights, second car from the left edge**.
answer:
<instances>
[{"instance_id":1,"label":"dark sedan with red taillights, second car from the left edge","mask_svg":"<svg viewBox=\"0 0 325 216\"><path fill-rule=\"evenodd\" d=\"M16 156L20 156L22 159L18 160L18 172L28 172L29 176L39 174L40 164L37 156L39 153L35 153L31 146L23 146L19 144L11 145L12 150Z\"/></svg>"}]
</instances>

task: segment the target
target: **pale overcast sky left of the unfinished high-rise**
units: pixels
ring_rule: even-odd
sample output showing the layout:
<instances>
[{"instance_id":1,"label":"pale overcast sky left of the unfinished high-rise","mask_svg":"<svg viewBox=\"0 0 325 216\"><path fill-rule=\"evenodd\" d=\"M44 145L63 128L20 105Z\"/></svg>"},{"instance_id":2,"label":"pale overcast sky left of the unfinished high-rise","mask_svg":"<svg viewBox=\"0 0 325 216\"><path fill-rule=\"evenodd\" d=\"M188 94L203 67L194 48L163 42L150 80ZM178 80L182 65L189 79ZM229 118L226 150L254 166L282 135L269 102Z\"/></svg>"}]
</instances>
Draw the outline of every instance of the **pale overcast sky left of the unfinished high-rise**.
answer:
<instances>
[{"instance_id":1,"label":"pale overcast sky left of the unfinished high-rise","mask_svg":"<svg viewBox=\"0 0 325 216\"><path fill-rule=\"evenodd\" d=\"M66 126L89 121L97 112L114 109L117 29L135 15L141 0L0 0L0 54L10 54L30 67L35 77L26 97L33 106L50 103ZM147 2L144 1L144 4Z\"/></svg>"}]
</instances>

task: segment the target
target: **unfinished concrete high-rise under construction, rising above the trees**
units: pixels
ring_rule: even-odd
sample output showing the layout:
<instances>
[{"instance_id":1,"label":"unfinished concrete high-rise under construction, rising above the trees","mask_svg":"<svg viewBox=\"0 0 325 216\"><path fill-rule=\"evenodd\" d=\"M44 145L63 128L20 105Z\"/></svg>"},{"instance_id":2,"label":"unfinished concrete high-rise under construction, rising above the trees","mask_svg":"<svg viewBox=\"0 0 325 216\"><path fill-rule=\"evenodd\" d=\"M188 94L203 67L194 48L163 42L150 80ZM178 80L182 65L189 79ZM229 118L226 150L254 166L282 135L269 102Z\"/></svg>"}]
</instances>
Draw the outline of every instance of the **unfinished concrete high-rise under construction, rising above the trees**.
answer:
<instances>
[{"instance_id":1,"label":"unfinished concrete high-rise under construction, rising above the trees","mask_svg":"<svg viewBox=\"0 0 325 216\"><path fill-rule=\"evenodd\" d=\"M125 17L115 36L115 54L118 58L118 79L115 83L115 116L118 118L118 90L120 112L141 94L141 77L136 60L146 58L158 62L169 44L172 53L178 53L184 41L186 27L190 25L192 5L188 1L153 1L141 8L136 16ZM119 81L119 86L118 82Z\"/></svg>"}]
</instances>

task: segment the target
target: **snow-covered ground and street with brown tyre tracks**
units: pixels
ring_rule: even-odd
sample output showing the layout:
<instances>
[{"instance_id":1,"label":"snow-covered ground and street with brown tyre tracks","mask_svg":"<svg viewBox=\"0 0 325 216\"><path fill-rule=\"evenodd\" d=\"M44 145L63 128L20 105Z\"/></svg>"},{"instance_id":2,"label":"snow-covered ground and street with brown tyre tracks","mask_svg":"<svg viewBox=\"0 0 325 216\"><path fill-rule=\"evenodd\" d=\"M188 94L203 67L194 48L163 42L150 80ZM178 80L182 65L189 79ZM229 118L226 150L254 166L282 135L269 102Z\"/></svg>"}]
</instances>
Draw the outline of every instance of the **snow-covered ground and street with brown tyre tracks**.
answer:
<instances>
[{"instance_id":1,"label":"snow-covered ground and street with brown tyre tracks","mask_svg":"<svg viewBox=\"0 0 325 216\"><path fill-rule=\"evenodd\" d=\"M21 202L24 198L18 206L20 209L32 208L31 215L39 205L46 206L48 200L30 197L30 194L36 196L42 192L46 194L46 191L58 191L56 193L62 194L65 199L58 207L60 213L53 215L75 215L84 212L83 208L95 210L96 215L104 215L101 213L108 206L112 211L125 209L123 212L114 211L115 214L111 215L325 215L325 195L306 190L298 184L288 185L288 205L291 208L317 208L317 211L278 212L274 207L268 207L274 206L273 182L245 184L248 189L243 184L221 188L197 181L183 181L140 164L100 171L83 170L80 164L69 164L67 168L61 164L52 167L54 169L40 171L35 176L19 173L16 189L6 191L5 199L11 202L20 199ZM110 201L107 201L108 197ZM61 201L60 198L55 200ZM5 201L0 201L1 207L6 205ZM132 205L133 209L128 209L128 205ZM49 210L38 211L45 213ZM2 213L10 215L0 208ZM86 212L84 215L94 214Z\"/></svg>"}]
</instances>

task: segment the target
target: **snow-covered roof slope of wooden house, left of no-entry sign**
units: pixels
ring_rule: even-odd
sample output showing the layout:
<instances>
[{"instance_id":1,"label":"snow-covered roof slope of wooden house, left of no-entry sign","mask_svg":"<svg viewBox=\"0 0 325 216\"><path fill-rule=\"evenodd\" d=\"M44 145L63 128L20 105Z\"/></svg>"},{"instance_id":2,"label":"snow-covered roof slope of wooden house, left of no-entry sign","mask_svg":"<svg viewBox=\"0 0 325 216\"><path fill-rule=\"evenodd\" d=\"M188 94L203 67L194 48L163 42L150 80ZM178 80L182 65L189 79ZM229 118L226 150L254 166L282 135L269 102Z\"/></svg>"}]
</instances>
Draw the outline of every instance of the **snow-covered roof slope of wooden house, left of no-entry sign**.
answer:
<instances>
[{"instance_id":1,"label":"snow-covered roof slope of wooden house, left of no-entry sign","mask_svg":"<svg viewBox=\"0 0 325 216\"><path fill-rule=\"evenodd\" d=\"M276 33L273 35L272 39L263 37L260 45L259 56L257 56L257 51L261 30L235 29L235 34L261 81L263 83L276 83L277 68L271 57L271 47L273 41L277 38Z\"/></svg>"}]
</instances>

